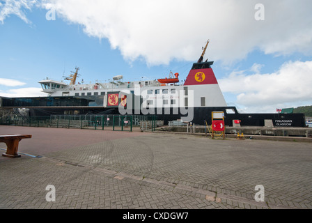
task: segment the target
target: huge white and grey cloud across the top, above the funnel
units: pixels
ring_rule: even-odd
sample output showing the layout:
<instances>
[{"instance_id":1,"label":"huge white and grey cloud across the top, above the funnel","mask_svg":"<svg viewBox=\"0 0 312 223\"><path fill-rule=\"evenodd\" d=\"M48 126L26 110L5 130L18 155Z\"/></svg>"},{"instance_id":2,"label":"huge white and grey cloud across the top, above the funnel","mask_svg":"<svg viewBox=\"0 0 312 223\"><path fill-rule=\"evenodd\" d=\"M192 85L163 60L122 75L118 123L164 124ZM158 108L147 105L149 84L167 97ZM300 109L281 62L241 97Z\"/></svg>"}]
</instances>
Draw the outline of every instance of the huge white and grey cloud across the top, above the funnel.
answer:
<instances>
[{"instance_id":1,"label":"huge white and grey cloud across the top, above the funnel","mask_svg":"<svg viewBox=\"0 0 312 223\"><path fill-rule=\"evenodd\" d=\"M23 20L23 7L55 8L57 20L79 24L87 35L107 38L126 60L145 59L150 65L172 59L196 61L208 38L206 55L226 63L244 59L254 49L276 55L312 54L311 0L262 0L265 21L254 18L256 0L8 2ZM0 13L2 21L8 14Z\"/></svg>"}]
</instances>

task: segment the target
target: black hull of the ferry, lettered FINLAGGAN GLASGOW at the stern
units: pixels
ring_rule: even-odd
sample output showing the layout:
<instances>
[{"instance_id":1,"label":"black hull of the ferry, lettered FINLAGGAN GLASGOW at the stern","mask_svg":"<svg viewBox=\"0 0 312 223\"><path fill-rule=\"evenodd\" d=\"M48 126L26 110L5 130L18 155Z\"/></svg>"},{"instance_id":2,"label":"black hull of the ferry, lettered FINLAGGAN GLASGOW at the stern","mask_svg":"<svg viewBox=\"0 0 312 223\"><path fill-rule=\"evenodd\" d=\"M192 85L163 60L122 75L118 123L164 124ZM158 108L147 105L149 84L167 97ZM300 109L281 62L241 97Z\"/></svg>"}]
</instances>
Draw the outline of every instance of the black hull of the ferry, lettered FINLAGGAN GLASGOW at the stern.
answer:
<instances>
[{"instance_id":1,"label":"black hull of the ferry, lettered FINLAGGAN GLASGOW at the stern","mask_svg":"<svg viewBox=\"0 0 312 223\"><path fill-rule=\"evenodd\" d=\"M233 113L228 113L231 110ZM306 127L304 114L240 114L235 107L194 107L192 123L197 125L204 125L207 121L208 125L212 123L212 112L224 112L224 122L227 126L233 126L233 121L239 120L241 126L265 126L265 120L272 120L272 123L276 127ZM50 108L30 108L30 116L49 116L56 114L96 114L96 115L108 115L116 114L120 115L118 108L103 108L103 107L50 107ZM132 111L130 114L142 114L142 112ZM150 110L148 115L157 116L158 120L164 121L164 125L167 125L169 121L176 121L182 119L186 120L187 115L181 114L180 110L177 112L173 108L170 109L154 109Z\"/></svg>"}]
</instances>

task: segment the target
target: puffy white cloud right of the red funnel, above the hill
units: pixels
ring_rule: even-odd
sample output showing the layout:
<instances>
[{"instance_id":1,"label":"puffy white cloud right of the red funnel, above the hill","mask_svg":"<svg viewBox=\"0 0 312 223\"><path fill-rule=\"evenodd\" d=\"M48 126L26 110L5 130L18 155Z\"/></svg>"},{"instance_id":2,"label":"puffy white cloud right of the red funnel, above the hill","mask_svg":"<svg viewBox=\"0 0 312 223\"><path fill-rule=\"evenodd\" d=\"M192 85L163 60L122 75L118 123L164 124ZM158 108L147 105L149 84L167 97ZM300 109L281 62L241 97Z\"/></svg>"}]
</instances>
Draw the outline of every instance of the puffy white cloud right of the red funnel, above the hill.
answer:
<instances>
[{"instance_id":1,"label":"puffy white cloud right of the red funnel, above the hill","mask_svg":"<svg viewBox=\"0 0 312 223\"><path fill-rule=\"evenodd\" d=\"M267 74L231 72L219 85L221 91L237 95L237 104L257 111L312 104L312 61L289 61Z\"/></svg>"}]
</instances>

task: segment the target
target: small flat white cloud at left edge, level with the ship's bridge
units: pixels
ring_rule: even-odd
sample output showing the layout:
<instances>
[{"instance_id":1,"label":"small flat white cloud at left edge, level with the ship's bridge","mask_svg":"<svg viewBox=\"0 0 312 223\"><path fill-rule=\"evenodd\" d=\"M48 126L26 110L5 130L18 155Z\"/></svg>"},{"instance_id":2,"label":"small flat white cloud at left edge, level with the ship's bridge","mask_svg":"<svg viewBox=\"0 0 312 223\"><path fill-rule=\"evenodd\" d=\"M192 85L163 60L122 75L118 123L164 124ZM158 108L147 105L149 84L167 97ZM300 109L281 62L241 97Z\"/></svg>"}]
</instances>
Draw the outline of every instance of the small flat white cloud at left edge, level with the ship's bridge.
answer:
<instances>
[{"instance_id":1,"label":"small flat white cloud at left edge, level with the ship's bridge","mask_svg":"<svg viewBox=\"0 0 312 223\"><path fill-rule=\"evenodd\" d=\"M0 91L0 96L8 98L47 96L47 93L41 91L41 88L10 89L8 91Z\"/></svg>"}]
</instances>

